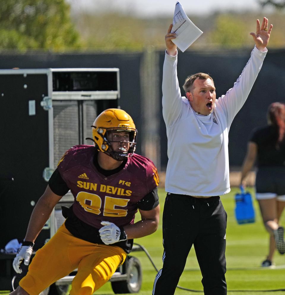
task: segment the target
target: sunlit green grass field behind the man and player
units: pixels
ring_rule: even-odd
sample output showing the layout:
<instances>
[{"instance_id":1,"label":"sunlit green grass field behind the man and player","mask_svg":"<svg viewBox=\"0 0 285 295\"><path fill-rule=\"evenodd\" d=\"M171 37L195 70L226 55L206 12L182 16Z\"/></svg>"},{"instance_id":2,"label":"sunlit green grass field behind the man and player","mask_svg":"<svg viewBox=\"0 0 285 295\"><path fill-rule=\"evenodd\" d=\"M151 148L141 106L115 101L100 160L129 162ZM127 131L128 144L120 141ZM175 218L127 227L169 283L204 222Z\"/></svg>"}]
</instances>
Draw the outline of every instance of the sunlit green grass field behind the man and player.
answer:
<instances>
[{"instance_id":1,"label":"sunlit green grass field behind the man and player","mask_svg":"<svg viewBox=\"0 0 285 295\"><path fill-rule=\"evenodd\" d=\"M275 269L264 269L260 267L265 259L268 249L268 233L262 223L258 203L254 201L256 211L256 222L253 224L238 225L234 216L234 195L238 192L237 188L221 197L224 208L227 211L227 273L228 294L285 294L285 255L280 255L277 251L274 262ZM254 197L253 189L250 189ZM166 193L164 189L159 189L161 213ZM139 214L138 214L139 215ZM162 215L161 215L162 216ZM139 218L139 216L137 216ZM285 224L285 214L282 216L281 223ZM191 226L191 225L189 225ZM150 236L136 239L135 243L143 245L151 255L154 264L158 269L162 267L162 217L158 230ZM140 295L149 295L152 291L153 280L156 276L151 262L144 252L133 252L132 256L139 258L143 269L143 284ZM195 256L194 247L192 247L187 259L186 267L180 278L179 286L198 290L200 292L191 292L176 289L175 294L203 294L201 273ZM284 291L263 292L265 290L284 289ZM2 293L3 294L3 293ZM4 293L9 294L9 293ZM94 294L109 295L114 294L111 284L108 282Z\"/></svg>"}]
</instances>

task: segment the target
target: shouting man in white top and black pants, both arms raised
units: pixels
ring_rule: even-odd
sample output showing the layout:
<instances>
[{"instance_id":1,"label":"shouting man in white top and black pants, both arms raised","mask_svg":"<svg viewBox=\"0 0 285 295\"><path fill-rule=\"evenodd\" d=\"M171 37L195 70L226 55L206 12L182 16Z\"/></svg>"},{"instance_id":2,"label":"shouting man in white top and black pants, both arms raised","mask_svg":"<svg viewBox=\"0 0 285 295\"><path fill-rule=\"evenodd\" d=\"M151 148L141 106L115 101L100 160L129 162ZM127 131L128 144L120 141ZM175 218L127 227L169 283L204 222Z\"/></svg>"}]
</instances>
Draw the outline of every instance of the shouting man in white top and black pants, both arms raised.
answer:
<instances>
[{"instance_id":1,"label":"shouting man in white top and black pants, both arms raised","mask_svg":"<svg viewBox=\"0 0 285 295\"><path fill-rule=\"evenodd\" d=\"M230 191L228 135L245 103L267 53L273 25L257 20L250 33L255 46L233 87L216 100L213 79L204 73L189 76L182 97L177 79L175 33L165 36L162 79L163 118L168 139L163 211L163 267L153 295L173 295L194 244L206 295L227 294L227 213L220 195ZM238 28L237 28L238 29ZM190 65L189 65L190 66Z\"/></svg>"}]
</instances>

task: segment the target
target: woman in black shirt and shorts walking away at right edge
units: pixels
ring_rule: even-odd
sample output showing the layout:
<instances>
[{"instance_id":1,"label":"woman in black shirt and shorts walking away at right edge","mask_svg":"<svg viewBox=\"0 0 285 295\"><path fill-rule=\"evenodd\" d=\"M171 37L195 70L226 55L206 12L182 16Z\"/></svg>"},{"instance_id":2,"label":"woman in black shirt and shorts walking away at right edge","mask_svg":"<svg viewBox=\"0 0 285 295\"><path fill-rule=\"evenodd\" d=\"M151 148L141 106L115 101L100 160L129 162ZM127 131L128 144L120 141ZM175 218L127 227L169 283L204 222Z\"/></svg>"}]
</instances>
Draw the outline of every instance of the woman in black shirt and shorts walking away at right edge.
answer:
<instances>
[{"instance_id":1,"label":"woman in black shirt and shorts walking away at right edge","mask_svg":"<svg viewBox=\"0 0 285 295\"><path fill-rule=\"evenodd\" d=\"M263 267L273 267L275 248L285 253L284 227L278 222L285 207L285 104L272 103L268 125L253 130L243 162L241 185L257 160L256 198L266 230L270 233L269 253Z\"/></svg>"}]
</instances>

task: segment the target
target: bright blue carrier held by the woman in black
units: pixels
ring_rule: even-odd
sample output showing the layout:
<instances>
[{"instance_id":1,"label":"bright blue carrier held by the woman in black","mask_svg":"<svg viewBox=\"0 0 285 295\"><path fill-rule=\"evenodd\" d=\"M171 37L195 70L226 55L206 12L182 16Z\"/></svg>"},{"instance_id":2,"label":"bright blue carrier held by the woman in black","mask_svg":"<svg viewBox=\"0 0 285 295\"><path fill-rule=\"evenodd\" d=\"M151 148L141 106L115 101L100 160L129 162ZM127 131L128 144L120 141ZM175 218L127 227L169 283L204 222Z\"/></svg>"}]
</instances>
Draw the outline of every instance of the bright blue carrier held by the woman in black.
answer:
<instances>
[{"instance_id":1,"label":"bright blue carrier held by the woman in black","mask_svg":"<svg viewBox=\"0 0 285 295\"><path fill-rule=\"evenodd\" d=\"M241 193L235 195L235 218L238 224L255 222L255 213L251 201L251 194L240 188Z\"/></svg>"}]
</instances>

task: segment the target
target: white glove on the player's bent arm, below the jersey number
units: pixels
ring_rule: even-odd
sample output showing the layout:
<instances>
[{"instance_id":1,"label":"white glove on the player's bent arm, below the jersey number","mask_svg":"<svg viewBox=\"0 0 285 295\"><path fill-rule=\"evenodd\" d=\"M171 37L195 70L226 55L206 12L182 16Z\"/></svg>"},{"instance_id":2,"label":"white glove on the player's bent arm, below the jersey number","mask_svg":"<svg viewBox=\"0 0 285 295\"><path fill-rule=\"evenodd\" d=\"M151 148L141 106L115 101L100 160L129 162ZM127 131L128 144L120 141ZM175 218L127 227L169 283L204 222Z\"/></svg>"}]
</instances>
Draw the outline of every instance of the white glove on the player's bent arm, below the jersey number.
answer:
<instances>
[{"instance_id":1,"label":"white glove on the player's bent arm, below the jersey number","mask_svg":"<svg viewBox=\"0 0 285 295\"><path fill-rule=\"evenodd\" d=\"M104 226L99 229L99 233L104 244L110 245L127 239L123 228L120 229L109 221L102 221L101 224Z\"/></svg>"}]
</instances>

